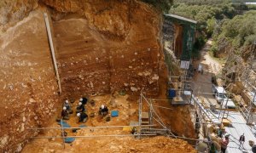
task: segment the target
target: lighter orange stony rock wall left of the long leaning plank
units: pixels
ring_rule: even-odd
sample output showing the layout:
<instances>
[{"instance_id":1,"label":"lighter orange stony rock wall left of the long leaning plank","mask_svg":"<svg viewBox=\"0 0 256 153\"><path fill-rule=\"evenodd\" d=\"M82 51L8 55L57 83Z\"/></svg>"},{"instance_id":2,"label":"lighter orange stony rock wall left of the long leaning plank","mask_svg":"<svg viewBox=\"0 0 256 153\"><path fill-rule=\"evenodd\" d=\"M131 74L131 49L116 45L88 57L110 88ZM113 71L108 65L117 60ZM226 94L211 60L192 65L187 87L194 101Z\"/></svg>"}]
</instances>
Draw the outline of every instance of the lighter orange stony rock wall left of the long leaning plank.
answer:
<instances>
[{"instance_id":1,"label":"lighter orange stony rock wall left of the long leaning plank","mask_svg":"<svg viewBox=\"0 0 256 153\"><path fill-rule=\"evenodd\" d=\"M0 37L0 70L0 152L20 151L35 134L26 128L48 122L58 98L42 12Z\"/></svg>"}]
</instances>

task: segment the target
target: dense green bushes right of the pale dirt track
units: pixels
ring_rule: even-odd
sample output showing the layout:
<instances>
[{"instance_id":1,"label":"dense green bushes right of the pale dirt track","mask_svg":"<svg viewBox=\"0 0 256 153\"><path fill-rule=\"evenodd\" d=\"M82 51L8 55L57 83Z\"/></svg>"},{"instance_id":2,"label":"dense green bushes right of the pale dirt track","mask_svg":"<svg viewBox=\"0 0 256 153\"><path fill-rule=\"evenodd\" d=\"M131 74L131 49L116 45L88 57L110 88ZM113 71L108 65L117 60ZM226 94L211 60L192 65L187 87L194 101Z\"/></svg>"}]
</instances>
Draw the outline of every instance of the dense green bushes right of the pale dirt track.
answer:
<instances>
[{"instance_id":1,"label":"dense green bushes right of the pale dirt track","mask_svg":"<svg viewBox=\"0 0 256 153\"><path fill-rule=\"evenodd\" d=\"M256 10L236 15L232 20L223 20L215 26L212 51L215 56L225 52L226 48L234 50L246 58L256 42Z\"/></svg>"}]
</instances>

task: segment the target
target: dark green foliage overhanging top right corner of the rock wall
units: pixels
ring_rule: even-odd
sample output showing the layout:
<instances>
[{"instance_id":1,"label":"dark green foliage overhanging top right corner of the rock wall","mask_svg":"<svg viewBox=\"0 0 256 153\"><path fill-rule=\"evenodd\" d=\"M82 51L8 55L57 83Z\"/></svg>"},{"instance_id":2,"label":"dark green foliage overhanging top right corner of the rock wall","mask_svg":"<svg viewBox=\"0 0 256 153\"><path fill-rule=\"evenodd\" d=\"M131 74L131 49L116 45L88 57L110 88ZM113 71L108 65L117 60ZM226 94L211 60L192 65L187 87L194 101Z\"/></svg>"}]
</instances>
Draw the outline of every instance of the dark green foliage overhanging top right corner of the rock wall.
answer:
<instances>
[{"instance_id":1,"label":"dark green foliage overhanging top right corner of the rock wall","mask_svg":"<svg viewBox=\"0 0 256 153\"><path fill-rule=\"evenodd\" d=\"M166 13L171 8L173 0L142 0L143 3L149 3L155 8L160 9L162 12Z\"/></svg>"}]
</instances>

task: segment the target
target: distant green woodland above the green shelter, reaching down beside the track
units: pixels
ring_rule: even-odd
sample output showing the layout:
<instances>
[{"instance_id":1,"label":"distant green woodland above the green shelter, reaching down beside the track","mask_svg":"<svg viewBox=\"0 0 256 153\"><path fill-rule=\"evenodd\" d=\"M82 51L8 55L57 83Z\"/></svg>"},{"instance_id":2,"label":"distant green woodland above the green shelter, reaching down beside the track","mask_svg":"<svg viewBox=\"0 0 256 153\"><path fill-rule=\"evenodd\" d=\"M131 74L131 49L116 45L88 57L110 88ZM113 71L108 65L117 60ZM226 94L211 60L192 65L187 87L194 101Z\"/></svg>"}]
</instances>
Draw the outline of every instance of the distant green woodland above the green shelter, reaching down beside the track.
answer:
<instances>
[{"instance_id":1,"label":"distant green woodland above the green shelter, reaching down beside the track","mask_svg":"<svg viewBox=\"0 0 256 153\"><path fill-rule=\"evenodd\" d=\"M183 1L178 1L183 2ZM195 2L194 2L195 3ZM200 50L204 46L209 37L217 36L221 33L225 20L233 19L238 14L249 10L243 3L230 3L223 1L222 3L174 3L169 10L170 14L177 14L198 22L196 26L197 37L193 48L193 58L198 58ZM218 39L218 38L216 38ZM217 45L212 50L217 52Z\"/></svg>"}]
</instances>

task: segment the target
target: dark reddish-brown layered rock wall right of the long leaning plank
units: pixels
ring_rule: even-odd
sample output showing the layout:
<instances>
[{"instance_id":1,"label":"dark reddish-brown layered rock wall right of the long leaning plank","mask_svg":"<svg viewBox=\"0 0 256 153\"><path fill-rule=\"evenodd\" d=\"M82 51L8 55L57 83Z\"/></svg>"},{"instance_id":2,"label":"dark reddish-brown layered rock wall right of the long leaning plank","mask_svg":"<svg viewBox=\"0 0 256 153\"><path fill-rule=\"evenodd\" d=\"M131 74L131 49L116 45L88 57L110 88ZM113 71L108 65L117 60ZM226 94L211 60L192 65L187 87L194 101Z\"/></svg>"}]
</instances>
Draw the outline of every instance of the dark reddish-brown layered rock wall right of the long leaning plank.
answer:
<instances>
[{"instance_id":1,"label":"dark reddish-brown layered rock wall right of the long leaning plank","mask_svg":"<svg viewBox=\"0 0 256 153\"><path fill-rule=\"evenodd\" d=\"M158 94L160 15L134 1L51 1L67 96L141 89ZM72 13L72 14L71 14Z\"/></svg>"}]
</instances>

